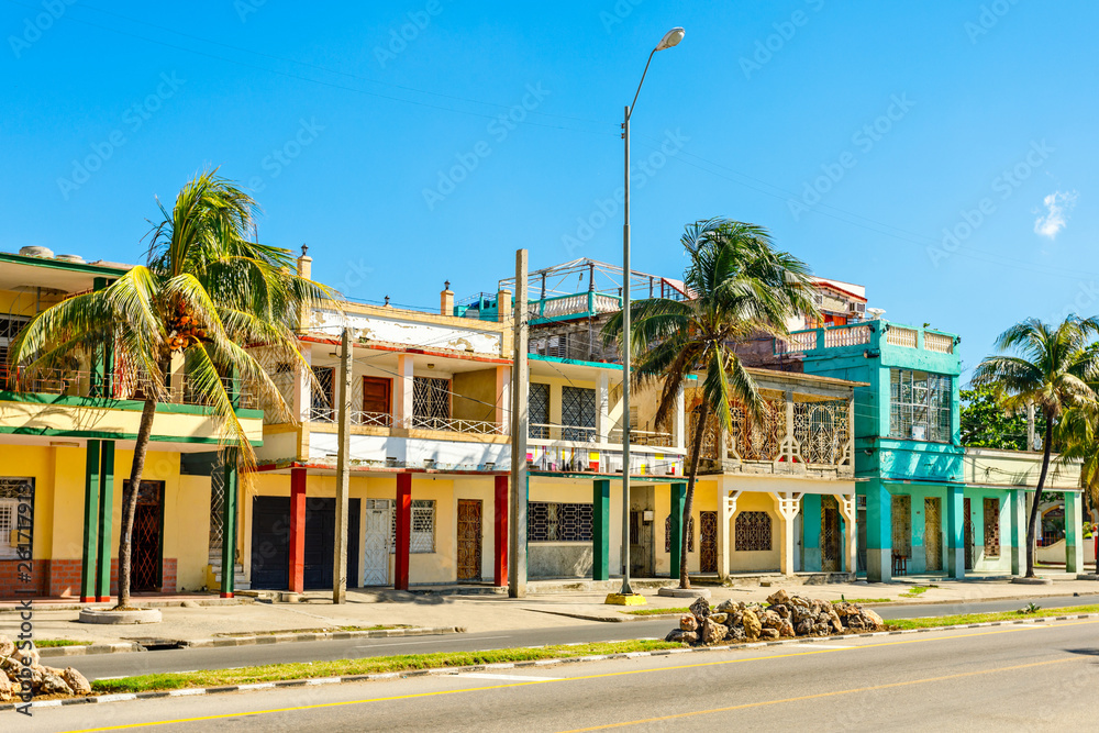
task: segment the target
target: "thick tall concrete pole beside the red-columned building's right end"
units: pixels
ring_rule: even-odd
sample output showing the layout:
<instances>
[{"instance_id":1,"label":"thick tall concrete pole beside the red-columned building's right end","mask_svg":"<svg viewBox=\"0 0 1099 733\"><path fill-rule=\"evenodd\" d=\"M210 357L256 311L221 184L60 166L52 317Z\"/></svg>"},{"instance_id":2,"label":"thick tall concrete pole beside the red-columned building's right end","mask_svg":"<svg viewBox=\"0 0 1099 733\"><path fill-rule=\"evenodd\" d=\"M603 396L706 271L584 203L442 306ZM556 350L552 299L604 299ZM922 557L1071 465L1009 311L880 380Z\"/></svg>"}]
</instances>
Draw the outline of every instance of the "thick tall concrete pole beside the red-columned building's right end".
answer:
<instances>
[{"instance_id":1,"label":"thick tall concrete pole beside the red-columned building's right end","mask_svg":"<svg viewBox=\"0 0 1099 733\"><path fill-rule=\"evenodd\" d=\"M529 429L526 366L526 249L515 251L514 353L511 360L511 532L508 555L511 571L508 596L526 596L526 436Z\"/></svg>"}]
</instances>

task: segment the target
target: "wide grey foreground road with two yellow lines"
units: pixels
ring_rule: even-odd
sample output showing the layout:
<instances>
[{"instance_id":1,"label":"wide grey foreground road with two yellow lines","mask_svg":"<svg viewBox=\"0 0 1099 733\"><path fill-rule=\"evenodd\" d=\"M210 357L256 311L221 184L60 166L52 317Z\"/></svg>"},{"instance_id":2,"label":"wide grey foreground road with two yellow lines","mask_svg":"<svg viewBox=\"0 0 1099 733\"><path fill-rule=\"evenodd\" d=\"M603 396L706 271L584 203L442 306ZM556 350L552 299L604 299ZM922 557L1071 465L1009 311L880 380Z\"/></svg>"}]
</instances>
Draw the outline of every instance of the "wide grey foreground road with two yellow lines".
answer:
<instances>
[{"instance_id":1,"label":"wide grey foreground road with two yellow lines","mask_svg":"<svg viewBox=\"0 0 1099 733\"><path fill-rule=\"evenodd\" d=\"M1087 728L1097 684L1099 620L1075 620L51 708L0 726L1063 731Z\"/></svg>"}]
</instances>

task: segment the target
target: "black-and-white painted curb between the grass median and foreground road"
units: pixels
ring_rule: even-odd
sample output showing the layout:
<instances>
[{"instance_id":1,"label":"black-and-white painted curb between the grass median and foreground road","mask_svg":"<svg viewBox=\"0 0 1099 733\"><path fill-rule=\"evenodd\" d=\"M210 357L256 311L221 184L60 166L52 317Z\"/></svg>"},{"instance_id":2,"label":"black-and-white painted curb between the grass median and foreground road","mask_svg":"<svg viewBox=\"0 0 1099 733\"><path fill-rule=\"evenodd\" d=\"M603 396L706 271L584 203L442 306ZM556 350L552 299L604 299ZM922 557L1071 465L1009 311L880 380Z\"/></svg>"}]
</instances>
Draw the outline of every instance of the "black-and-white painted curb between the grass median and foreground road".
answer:
<instances>
[{"instance_id":1,"label":"black-and-white painted curb between the grass median and foreground road","mask_svg":"<svg viewBox=\"0 0 1099 733\"><path fill-rule=\"evenodd\" d=\"M344 682L373 682L387 679L401 679L407 677L436 677L444 675L457 675L464 671L486 671L492 669L522 669L530 667L546 667L555 664L574 664L580 662L606 662L608 659L635 659L640 657L659 657L671 654L702 654L706 652L731 652L734 649L758 648L761 646L781 646L784 644L806 644L818 643L826 645L833 640L845 637L868 637L868 636L896 636L898 634L918 634L929 631L946 631L951 629L980 629L984 626L1011 626L1017 624L1044 623L1047 621L1072 621L1075 619L1099 619L1099 613L1070 613L1068 615L1043 617L1040 619L1019 619L1017 621L985 621L981 623L962 624L956 626L934 626L928 629L903 629L900 631L875 631L866 634L842 634L839 636L801 636L793 638L780 638L770 642L750 642L744 644L729 644L722 646L688 646L674 649L656 649L655 652L622 652L620 654L593 654L582 657L560 657L557 659L534 659L531 662L502 662L498 664L478 664L468 667L441 667L432 669L409 669L406 671L388 671L375 675L349 675L347 677L322 677L319 679L287 679L277 682L253 682L249 685L227 685L224 687L206 688L182 688L178 690L160 690L156 692L120 692L115 695L100 695L87 698L65 698L62 700L42 700L31 702L31 708L59 708L62 706L75 704L102 704L106 702L121 702L123 700L153 700L158 698L181 698L197 695L221 695L223 692L243 692L247 690L270 690L280 687L314 687L320 685L342 685ZM355 632L347 632L355 633ZM363 632L358 632L363 633ZM613 643L613 642L608 642ZM578 643L580 645L582 643ZM0 712L14 710L16 703L8 702L0 704Z\"/></svg>"}]
</instances>

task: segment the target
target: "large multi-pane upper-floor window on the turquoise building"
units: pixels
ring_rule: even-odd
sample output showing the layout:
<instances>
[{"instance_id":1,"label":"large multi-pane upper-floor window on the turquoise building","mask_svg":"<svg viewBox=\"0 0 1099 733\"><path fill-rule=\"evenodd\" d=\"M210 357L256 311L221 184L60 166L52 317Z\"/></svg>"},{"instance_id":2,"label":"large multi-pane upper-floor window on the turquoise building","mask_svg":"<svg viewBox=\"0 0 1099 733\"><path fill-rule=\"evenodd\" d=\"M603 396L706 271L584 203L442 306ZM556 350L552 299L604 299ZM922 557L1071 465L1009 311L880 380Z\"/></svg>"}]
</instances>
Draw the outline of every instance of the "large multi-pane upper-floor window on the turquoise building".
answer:
<instances>
[{"instance_id":1,"label":"large multi-pane upper-floor window on the turquoise building","mask_svg":"<svg viewBox=\"0 0 1099 733\"><path fill-rule=\"evenodd\" d=\"M950 443L951 377L911 369L890 371L889 436Z\"/></svg>"}]
</instances>

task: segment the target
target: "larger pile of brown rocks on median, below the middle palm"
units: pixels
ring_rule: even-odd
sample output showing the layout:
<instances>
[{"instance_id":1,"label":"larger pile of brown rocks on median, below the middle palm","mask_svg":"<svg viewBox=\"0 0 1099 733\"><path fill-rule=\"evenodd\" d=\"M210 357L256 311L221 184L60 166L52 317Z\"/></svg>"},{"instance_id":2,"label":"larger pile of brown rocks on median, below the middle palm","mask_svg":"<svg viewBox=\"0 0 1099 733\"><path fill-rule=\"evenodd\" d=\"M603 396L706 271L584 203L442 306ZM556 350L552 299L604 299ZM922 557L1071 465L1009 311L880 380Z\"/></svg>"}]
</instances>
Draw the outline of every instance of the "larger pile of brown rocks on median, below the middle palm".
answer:
<instances>
[{"instance_id":1,"label":"larger pile of brown rocks on median, below the middle palm","mask_svg":"<svg viewBox=\"0 0 1099 733\"><path fill-rule=\"evenodd\" d=\"M767 599L766 607L728 600L711 609L708 600L699 598L691 604L690 613L679 618L679 628L665 641L712 646L784 636L862 633L884 628L881 617L857 603L832 603L779 590Z\"/></svg>"}]
</instances>

